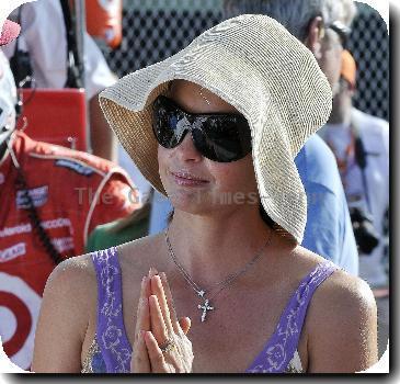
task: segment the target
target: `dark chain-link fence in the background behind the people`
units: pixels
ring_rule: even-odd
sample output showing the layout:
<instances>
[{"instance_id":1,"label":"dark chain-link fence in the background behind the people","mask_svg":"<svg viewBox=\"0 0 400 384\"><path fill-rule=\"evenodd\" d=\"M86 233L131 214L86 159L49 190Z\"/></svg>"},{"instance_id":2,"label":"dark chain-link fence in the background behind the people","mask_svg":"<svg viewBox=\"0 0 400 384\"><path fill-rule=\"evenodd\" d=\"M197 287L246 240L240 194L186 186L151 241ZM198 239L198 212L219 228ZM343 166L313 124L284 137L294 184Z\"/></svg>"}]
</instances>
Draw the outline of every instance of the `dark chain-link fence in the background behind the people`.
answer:
<instances>
[{"instance_id":1,"label":"dark chain-link fence in the background behind the people","mask_svg":"<svg viewBox=\"0 0 400 384\"><path fill-rule=\"evenodd\" d=\"M357 65L354 106L389 120L389 35L372 7L356 2L348 49ZM125 0L121 45L112 49L98 39L118 76L146 67L185 47L221 19L220 0Z\"/></svg>"}]
</instances>

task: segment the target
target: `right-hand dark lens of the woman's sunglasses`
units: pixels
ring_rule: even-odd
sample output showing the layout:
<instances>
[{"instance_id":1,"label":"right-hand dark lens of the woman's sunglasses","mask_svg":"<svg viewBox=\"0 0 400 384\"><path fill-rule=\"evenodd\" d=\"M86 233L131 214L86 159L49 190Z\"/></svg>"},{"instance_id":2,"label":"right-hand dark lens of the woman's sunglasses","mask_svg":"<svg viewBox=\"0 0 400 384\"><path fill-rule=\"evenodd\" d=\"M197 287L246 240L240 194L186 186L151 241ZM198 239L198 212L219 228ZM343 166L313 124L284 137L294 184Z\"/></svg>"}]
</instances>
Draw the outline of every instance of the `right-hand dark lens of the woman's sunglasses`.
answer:
<instances>
[{"instance_id":1,"label":"right-hand dark lens of the woman's sunglasses","mask_svg":"<svg viewBox=\"0 0 400 384\"><path fill-rule=\"evenodd\" d=\"M213 161L230 162L247 156L251 150L250 128L244 117L213 116L202 129L193 129L196 148Z\"/></svg>"}]
</instances>

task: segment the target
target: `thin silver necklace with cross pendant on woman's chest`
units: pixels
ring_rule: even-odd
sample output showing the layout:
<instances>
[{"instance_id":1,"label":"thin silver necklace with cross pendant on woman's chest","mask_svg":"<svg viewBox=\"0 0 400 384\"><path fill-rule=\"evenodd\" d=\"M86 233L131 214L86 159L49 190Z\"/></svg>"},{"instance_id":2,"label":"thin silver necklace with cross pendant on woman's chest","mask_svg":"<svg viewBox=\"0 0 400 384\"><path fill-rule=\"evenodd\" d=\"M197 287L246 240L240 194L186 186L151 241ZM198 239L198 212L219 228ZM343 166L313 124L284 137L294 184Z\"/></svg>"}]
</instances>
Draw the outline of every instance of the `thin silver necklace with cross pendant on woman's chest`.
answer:
<instances>
[{"instance_id":1,"label":"thin silver necklace with cross pendant on woman's chest","mask_svg":"<svg viewBox=\"0 0 400 384\"><path fill-rule=\"evenodd\" d=\"M182 273L183 278L185 279L185 281L187 282L187 284L196 292L197 296L202 297L203 305L198 304L197 308L202 310L202 317L201 320L202 323L204 323L206 320L206 316L207 316L207 312L208 310L214 310L215 307L212 306L212 300L217 296L222 290L225 290L226 287L228 287L229 285L231 285L238 278L240 278L242 274L244 274L250 267L252 267L263 255L264 249L267 247L267 245L271 241L272 238L272 230L270 231L270 236L266 240L266 242L261 247L261 249L255 253L255 256L248 261L244 267L242 269L240 269L238 272L229 274L226 279L224 279L222 281L213 284L213 287L210 290L204 290L202 287L198 286L198 284L196 284L193 279L191 278L191 275L187 273L187 271L183 268L183 266L178 261L176 256L173 251L170 238L168 236L168 230L169 228L165 229L165 242L167 242L167 247L168 247L168 252L173 261L173 263L175 264L175 267L178 268L178 270ZM215 291L215 292L214 292ZM214 293L213 293L214 292ZM208 297L207 297L208 296Z\"/></svg>"}]
</instances>

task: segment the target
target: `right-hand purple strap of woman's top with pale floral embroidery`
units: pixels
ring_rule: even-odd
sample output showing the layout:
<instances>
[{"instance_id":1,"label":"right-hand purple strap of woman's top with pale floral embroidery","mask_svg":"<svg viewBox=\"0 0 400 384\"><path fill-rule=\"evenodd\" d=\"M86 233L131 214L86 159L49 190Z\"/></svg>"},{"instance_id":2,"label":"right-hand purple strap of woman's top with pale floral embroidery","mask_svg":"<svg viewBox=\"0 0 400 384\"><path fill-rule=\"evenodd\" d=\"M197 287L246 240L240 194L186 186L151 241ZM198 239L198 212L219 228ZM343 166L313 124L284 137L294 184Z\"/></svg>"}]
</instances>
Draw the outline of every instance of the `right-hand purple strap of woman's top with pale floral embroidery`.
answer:
<instances>
[{"instance_id":1,"label":"right-hand purple strap of woman's top with pale floral embroidery","mask_svg":"<svg viewBox=\"0 0 400 384\"><path fill-rule=\"evenodd\" d=\"M306 275L284 309L275 332L247 372L284 372L297 349L308 305L317 287L339 267L327 260Z\"/></svg>"}]
</instances>

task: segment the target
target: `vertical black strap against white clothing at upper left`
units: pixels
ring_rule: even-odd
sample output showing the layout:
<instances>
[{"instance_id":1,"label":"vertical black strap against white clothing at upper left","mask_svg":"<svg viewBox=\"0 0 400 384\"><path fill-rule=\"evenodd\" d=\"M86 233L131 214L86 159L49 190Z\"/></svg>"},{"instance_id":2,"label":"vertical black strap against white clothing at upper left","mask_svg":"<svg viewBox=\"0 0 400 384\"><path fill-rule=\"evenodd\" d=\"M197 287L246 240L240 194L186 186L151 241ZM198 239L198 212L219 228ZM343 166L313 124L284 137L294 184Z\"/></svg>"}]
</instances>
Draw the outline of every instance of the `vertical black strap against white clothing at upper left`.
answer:
<instances>
[{"instance_id":1,"label":"vertical black strap against white clothing at upper left","mask_svg":"<svg viewBox=\"0 0 400 384\"><path fill-rule=\"evenodd\" d=\"M78 55L77 35L68 0L60 0L67 38L67 80L65 88L83 88L82 63Z\"/></svg>"}]
</instances>

